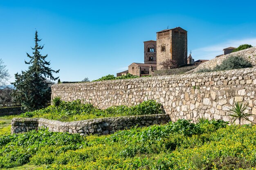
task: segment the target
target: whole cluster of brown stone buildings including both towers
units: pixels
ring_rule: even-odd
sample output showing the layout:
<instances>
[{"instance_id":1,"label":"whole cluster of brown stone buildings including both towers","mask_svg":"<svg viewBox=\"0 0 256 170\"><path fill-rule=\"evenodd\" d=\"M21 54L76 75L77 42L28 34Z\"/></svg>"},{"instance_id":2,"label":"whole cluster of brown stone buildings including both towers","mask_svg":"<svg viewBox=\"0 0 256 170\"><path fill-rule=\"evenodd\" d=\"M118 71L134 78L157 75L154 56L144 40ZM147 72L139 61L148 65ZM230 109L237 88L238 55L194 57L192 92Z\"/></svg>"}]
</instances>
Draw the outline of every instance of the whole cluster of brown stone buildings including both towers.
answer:
<instances>
[{"instance_id":1,"label":"whole cluster of brown stone buildings including both towers","mask_svg":"<svg viewBox=\"0 0 256 170\"><path fill-rule=\"evenodd\" d=\"M191 55L190 55L191 56ZM157 41L144 41L144 63L132 63L128 72L117 73L117 76L128 73L137 76L151 75L151 71L161 69L161 62L175 60L179 66L187 64L187 31L181 27L157 32ZM190 63L193 63L192 57Z\"/></svg>"}]
</instances>

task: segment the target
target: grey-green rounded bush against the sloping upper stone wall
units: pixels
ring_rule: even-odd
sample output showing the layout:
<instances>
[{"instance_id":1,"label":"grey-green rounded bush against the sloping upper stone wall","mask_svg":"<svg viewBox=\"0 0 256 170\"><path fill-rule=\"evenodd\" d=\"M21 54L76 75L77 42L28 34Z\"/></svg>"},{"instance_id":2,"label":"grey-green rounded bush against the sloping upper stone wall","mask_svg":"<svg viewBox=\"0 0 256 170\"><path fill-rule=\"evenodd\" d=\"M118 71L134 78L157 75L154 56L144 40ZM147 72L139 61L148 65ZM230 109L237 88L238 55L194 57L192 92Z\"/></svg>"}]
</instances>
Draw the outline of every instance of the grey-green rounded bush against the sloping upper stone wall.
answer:
<instances>
[{"instance_id":1,"label":"grey-green rounded bush against the sloping upper stone wall","mask_svg":"<svg viewBox=\"0 0 256 170\"><path fill-rule=\"evenodd\" d=\"M252 64L245 60L243 57L239 56L230 56L227 59L223 60L220 65L217 65L213 69L203 68L197 73L210 72L210 71L224 71L224 70L233 70L238 68L247 68L252 67Z\"/></svg>"}]
</instances>

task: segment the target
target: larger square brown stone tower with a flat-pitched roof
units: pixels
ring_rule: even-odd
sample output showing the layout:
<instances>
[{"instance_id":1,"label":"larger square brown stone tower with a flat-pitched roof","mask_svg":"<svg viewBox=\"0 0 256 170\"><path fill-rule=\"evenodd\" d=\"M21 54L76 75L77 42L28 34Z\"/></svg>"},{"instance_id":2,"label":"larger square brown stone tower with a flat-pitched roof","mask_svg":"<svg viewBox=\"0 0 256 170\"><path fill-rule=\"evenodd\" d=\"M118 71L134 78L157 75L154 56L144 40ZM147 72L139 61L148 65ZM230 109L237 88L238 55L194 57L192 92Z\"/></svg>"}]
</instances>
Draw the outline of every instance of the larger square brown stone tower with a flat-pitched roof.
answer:
<instances>
[{"instance_id":1,"label":"larger square brown stone tower with a flat-pitched roof","mask_svg":"<svg viewBox=\"0 0 256 170\"><path fill-rule=\"evenodd\" d=\"M187 64L187 31L176 27L157 32L157 70L167 59L175 60L177 64Z\"/></svg>"}]
</instances>

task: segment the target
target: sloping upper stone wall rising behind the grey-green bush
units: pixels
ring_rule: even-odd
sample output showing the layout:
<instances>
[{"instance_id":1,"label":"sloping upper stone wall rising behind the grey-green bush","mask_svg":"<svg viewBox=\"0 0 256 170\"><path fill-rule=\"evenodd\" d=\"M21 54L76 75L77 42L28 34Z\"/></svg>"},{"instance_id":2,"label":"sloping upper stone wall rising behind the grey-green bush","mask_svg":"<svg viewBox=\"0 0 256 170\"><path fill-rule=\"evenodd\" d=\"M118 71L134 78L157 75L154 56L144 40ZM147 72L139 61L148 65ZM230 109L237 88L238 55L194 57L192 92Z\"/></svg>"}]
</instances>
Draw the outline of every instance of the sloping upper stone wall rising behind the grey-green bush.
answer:
<instances>
[{"instance_id":1,"label":"sloping upper stone wall rising behind the grey-green bush","mask_svg":"<svg viewBox=\"0 0 256 170\"><path fill-rule=\"evenodd\" d=\"M187 73L196 73L198 70L201 70L203 68L212 69L216 65L220 65L222 63L222 61L225 60L226 58L232 57L232 56L244 57L246 60L251 62L252 65L256 66L256 46L254 46L249 49L236 51L234 53L230 53L230 54L218 57L218 58L214 58L212 60L209 60L208 62L204 62L204 63L200 64L197 68L195 68L191 71L188 71Z\"/></svg>"}]
</instances>

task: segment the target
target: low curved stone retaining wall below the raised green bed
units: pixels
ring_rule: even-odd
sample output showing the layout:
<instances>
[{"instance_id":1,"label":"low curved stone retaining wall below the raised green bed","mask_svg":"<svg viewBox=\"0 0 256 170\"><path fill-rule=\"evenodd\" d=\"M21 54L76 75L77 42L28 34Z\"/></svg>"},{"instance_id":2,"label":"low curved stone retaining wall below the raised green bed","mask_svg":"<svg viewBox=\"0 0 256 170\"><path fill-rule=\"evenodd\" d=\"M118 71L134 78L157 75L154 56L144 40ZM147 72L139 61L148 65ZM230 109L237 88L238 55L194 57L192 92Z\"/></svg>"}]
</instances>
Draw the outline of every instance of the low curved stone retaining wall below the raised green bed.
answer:
<instances>
[{"instance_id":1,"label":"low curved stone retaining wall below the raised green bed","mask_svg":"<svg viewBox=\"0 0 256 170\"><path fill-rule=\"evenodd\" d=\"M131 127L144 127L153 124L166 124L171 121L167 114L139 115L124 117L107 117L83 121L61 122L43 118L13 118L11 133L37 130L40 127L49 128L52 132L70 132L80 135L107 135L117 130L130 129Z\"/></svg>"}]
</instances>

